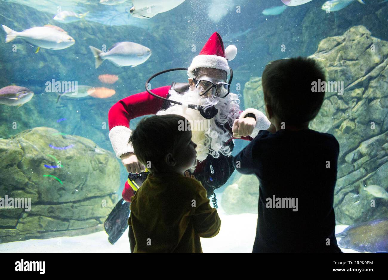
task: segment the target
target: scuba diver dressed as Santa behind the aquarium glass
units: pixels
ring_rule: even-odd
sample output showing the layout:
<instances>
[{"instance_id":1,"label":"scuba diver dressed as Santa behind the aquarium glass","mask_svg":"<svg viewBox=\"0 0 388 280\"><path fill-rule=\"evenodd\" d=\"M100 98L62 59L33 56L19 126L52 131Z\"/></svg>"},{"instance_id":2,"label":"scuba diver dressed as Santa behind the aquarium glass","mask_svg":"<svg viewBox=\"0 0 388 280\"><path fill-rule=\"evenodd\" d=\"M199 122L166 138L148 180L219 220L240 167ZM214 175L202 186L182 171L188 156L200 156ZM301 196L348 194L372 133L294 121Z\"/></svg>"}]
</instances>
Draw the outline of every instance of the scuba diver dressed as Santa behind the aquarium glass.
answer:
<instances>
[{"instance_id":1,"label":"scuba diver dressed as Santa behind the aquarium glass","mask_svg":"<svg viewBox=\"0 0 388 280\"><path fill-rule=\"evenodd\" d=\"M112 244L128 227L131 197L149 173L128 144L132 133L129 127L131 119L152 114L178 114L189 120L187 128L192 130L192 141L197 145L197 165L195 169L185 171L185 175L194 175L201 181L208 198L212 197L213 207L217 207L214 190L222 187L234 171L231 156L234 139L251 141L259 130L270 126L259 110L248 108L241 111L238 95L230 92L233 71L228 60L234 59L236 54L234 45L224 49L221 36L215 32L189 68L174 68L153 75L145 83L145 92L121 99L109 110L109 139L116 156L129 172L123 198L104 223ZM154 77L177 70L187 70L188 83L173 82L148 89L149 81ZM195 124L200 124L201 128L197 129Z\"/></svg>"}]
</instances>

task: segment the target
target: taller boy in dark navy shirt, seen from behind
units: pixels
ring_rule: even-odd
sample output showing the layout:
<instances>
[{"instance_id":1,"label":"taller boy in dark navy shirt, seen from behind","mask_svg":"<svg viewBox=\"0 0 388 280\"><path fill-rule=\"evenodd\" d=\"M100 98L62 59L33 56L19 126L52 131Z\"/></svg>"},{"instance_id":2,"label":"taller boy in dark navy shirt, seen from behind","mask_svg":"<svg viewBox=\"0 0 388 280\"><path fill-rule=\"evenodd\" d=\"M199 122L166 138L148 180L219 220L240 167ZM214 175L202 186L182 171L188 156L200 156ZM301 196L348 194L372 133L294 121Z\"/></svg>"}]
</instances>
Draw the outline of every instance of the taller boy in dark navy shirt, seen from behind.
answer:
<instances>
[{"instance_id":1,"label":"taller boy in dark navy shirt, seen from behind","mask_svg":"<svg viewBox=\"0 0 388 280\"><path fill-rule=\"evenodd\" d=\"M309 58L275 60L263 71L271 125L234 158L237 171L260 181L253 252L341 252L333 209L340 147L308 128L324 100L313 90L319 81L324 69Z\"/></svg>"}]
</instances>

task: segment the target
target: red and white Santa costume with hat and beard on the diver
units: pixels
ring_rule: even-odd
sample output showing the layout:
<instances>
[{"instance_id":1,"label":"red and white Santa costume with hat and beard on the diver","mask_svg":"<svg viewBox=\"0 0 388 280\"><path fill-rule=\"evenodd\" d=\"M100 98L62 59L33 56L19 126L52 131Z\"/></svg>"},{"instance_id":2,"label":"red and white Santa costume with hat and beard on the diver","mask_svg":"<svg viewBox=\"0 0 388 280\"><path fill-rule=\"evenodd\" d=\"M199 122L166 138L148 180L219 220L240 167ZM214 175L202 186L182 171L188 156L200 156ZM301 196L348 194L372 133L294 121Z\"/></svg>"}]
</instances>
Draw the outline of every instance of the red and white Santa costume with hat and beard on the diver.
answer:
<instances>
[{"instance_id":1,"label":"red and white Santa costume with hat and beard on the diver","mask_svg":"<svg viewBox=\"0 0 388 280\"><path fill-rule=\"evenodd\" d=\"M237 49L234 45L224 49L221 36L215 32L204 45L203 49L192 60L188 67L187 75L193 78L194 69L197 68L216 68L224 70L230 74L228 60L234 59ZM218 180L218 185L226 182L229 176L234 171L232 164L232 153L234 143L233 139L252 140L259 130L265 130L270 126L270 122L265 115L254 108L248 108L244 111L239 109L239 99L234 93L229 93L225 98L218 97L204 98L199 96L196 90L188 86L177 86L177 83L172 85L162 86L151 90L152 93L165 97L167 99L182 102L183 105L177 105L165 100L158 99L150 95L147 91L130 95L124 99L119 100L109 110L109 139L111 140L113 150L116 156L120 156L134 152L133 147L128 144L128 140L132 133L130 129L130 120L152 114L178 114L184 116L192 124L193 121L208 121L209 127L206 131L192 130L192 141L197 144L197 165L191 169L195 178L203 184L208 191L208 196L212 194L214 188L220 187L215 183ZM210 119L204 119L199 111L190 109L185 105L198 104L203 107L215 106L218 109L217 115ZM256 126L251 135L247 137L235 138L232 136L232 125L237 118L246 118L248 116L256 119ZM228 178L212 178L213 169L219 168L224 172L225 159L231 162L230 173L225 173ZM209 163L211 162L211 163ZM210 165L210 169L209 169ZM222 167L220 165L223 165ZM210 175L204 175L206 168L211 171ZM206 172L205 172L206 173ZM206 178L205 178L206 177ZM221 183L220 183L221 182ZM215 187L213 187L215 184ZM123 198L130 202L130 197L133 195L132 188L126 183L123 190Z\"/></svg>"}]
</instances>

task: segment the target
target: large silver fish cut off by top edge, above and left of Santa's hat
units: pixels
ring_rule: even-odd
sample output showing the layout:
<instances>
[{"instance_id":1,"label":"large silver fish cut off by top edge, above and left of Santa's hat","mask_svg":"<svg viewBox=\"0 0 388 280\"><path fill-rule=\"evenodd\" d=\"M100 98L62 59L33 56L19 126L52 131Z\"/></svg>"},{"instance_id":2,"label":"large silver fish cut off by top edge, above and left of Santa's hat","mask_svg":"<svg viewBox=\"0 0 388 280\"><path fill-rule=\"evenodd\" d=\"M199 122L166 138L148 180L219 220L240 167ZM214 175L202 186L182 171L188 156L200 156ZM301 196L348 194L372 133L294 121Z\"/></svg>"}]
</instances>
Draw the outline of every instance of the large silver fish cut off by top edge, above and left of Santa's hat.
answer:
<instances>
[{"instance_id":1,"label":"large silver fish cut off by top edge, above and left of Santa's hat","mask_svg":"<svg viewBox=\"0 0 388 280\"><path fill-rule=\"evenodd\" d=\"M140 19L149 19L159 13L174 9L185 0L132 0L130 14Z\"/></svg>"}]
</instances>

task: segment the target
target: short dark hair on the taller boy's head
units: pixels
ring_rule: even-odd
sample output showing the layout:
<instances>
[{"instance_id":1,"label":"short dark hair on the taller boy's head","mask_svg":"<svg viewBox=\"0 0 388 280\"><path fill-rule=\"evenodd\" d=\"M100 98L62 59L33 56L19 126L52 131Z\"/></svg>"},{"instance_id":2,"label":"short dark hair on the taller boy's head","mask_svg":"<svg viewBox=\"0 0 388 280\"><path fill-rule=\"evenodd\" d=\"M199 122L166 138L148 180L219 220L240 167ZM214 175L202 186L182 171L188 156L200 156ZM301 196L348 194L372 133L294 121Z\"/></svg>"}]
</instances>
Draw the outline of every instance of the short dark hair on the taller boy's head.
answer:
<instances>
[{"instance_id":1,"label":"short dark hair on the taller boy's head","mask_svg":"<svg viewBox=\"0 0 388 280\"><path fill-rule=\"evenodd\" d=\"M303 124L314 119L325 93L312 92L312 82L326 81L325 70L312 58L279 59L265 66L264 101L282 122ZM320 84L318 84L320 88Z\"/></svg>"}]
</instances>

